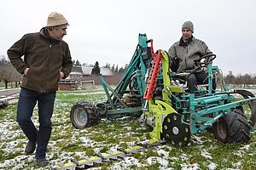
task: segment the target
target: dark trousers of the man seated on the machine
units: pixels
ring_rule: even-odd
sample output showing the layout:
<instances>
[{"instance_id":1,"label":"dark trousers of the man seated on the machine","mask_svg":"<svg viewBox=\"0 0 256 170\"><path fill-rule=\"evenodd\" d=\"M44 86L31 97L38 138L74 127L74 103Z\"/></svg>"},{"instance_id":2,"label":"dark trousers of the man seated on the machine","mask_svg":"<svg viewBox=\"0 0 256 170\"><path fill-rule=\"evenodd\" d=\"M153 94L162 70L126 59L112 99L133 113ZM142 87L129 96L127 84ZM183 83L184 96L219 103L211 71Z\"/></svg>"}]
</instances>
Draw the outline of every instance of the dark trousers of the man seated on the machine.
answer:
<instances>
[{"instance_id":1,"label":"dark trousers of the man seated on the machine","mask_svg":"<svg viewBox=\"0 0 256 170\"><path fill-rule=\"evenodd\" d=\"M191 74L189 76L187 81L188 81L189 93L193 94L193 93L195 93L195 91L197 91L198 84L207 84L208 83L208 75L204 71L195 72L194 74ZM216 82L215 82L214 78L213 78L213 82L212 82L212 89L213 90L216 89Z\"/></svg>"}]
</instances>

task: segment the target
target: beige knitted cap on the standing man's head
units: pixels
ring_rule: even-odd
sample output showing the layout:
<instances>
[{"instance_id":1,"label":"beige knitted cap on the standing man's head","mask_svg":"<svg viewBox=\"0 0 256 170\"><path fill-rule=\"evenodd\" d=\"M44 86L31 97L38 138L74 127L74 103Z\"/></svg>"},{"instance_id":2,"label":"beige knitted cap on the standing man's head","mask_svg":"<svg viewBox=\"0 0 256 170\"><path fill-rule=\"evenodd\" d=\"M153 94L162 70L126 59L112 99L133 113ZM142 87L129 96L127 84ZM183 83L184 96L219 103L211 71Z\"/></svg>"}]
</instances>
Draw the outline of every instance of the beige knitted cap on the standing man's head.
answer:
<instances>
[{"instance_id":1,"label":"beige knitted cap on the standing man's head","mask_svg":"<svg viewBox=\"0 0 256 170\"><path fill-rule=\"evenodd\" d=\"M61 13L52 12L49 14L47 26L61 26L65 24L68 25L68 22Z\"/></svg>"}]
</instances>

